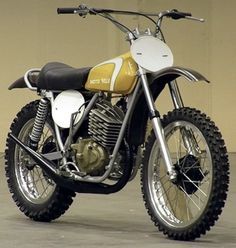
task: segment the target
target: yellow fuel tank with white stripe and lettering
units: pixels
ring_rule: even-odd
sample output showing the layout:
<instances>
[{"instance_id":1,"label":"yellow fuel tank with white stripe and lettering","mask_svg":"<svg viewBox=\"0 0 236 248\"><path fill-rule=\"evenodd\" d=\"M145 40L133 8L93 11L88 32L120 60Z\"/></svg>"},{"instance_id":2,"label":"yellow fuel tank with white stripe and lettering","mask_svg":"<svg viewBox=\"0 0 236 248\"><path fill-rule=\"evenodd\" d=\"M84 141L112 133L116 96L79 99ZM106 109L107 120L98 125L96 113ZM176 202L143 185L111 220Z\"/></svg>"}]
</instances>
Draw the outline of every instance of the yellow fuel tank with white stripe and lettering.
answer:
<instances>
[{"instance_id":1,"label":"yellow fuel tank with white stripe and lettering","mask_svg":"<svg viewBox=\"0 0 236 248\"><path fill-rule=\"evenodd\" d=\"M123 54L93 67L85 88L90 91L129 94L137 82L137 70L131 54Z\"/></svg>"}]
</instances>

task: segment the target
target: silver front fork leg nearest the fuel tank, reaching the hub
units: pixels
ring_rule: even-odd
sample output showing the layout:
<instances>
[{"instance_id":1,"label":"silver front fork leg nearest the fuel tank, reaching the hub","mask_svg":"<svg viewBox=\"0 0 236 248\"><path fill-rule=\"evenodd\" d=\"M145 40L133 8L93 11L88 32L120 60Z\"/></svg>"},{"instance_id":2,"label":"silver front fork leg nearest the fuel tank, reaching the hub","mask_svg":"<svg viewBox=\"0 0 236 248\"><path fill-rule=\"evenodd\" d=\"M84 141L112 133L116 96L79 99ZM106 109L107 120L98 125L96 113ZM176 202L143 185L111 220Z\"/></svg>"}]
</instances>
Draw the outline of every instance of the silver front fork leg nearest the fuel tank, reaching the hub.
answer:
<instances>
[{"instance_id":1,"label":"silver front fork leg nearest the fuel tank, reaching the hub","mask_svg":"<svg viewBox=\"0 0 236 248\"><path fill-rule=\"evenodd\" d=\"M170 177L170 180L174 181L176 180L176 171L174 170L174 166L172 165L172 159L165 139L164 129L162 128L160 116L155 108L155 103L149 89L146 73L141 67L139 67L139 73L140 73L147 105L149 108L150 119L153 124L154 133L156 135L157 141L159 142L161 154L164 159L164 163L166 165L167 173Z\"/></svg>"}]
</instances>

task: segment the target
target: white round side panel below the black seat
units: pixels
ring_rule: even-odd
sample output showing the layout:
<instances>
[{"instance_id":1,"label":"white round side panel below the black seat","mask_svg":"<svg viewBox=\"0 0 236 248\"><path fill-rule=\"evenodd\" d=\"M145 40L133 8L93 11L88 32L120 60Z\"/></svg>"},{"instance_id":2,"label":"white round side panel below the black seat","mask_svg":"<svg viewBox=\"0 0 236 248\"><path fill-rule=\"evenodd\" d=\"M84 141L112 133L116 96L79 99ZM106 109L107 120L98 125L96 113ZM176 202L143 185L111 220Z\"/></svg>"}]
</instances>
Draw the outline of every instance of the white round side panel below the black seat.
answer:
<instances>
[{"instance_id":1,"label":"white round side panel below the black seat","mask_svg":"<svg viewBox=\"0 0 236 248\"><path fill-rule=\"evenodd\" d=\"M52 106L52 118L55 123L62 128L69 128L71 122L71 115L78 110L80 113L77 115L75 123L81 119L85 103L84 97L76 90L66 90L60 93L54 100Z\"/></svg>"}]
</instances>

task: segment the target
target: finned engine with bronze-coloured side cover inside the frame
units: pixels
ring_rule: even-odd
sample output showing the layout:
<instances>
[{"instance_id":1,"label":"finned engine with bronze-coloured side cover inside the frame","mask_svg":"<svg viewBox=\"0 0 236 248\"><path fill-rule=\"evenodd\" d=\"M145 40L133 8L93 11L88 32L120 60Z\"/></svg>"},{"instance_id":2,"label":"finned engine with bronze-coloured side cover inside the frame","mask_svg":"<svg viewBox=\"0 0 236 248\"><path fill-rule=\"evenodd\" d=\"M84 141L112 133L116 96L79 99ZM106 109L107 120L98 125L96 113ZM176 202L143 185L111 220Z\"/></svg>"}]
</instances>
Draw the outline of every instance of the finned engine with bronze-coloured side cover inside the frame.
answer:
<instances>
[{"instance_id":1,"label":"finned engine with bronze-coloured side cover inside the frame","mask_svg":"<svg viewBox=\"0 0 236 248\"><path fill-rule=\"evenodd\" d=\"M109 155L118 139L123 119L123 111L105 100L97 103L90 111L89 138L79 139L71 146L76 164L82 173L92 176L104 173L105 166L109 163Z\"/></svg>"}]
</instances>

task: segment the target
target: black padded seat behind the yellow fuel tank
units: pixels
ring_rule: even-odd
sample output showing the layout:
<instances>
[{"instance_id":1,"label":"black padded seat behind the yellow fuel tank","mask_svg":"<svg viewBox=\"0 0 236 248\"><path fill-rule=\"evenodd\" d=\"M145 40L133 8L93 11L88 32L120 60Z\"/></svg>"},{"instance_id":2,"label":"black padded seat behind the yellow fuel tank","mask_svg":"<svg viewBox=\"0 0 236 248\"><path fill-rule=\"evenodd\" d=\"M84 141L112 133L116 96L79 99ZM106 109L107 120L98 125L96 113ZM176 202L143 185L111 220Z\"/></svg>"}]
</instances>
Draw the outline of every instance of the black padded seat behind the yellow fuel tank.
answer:
<instances>
[{"instance_id":1,"label":"black padded seat behind the yellow fuel tank","mask_svg":"<svg viewBox=\"0 0 236 248\"><path fill-rule=\"evenodd\" d=\"M76 69L69 65L51 62L39 73L38 88L46 90L79 90L87 81L90 67Z\"/></svg>"}]
</instances>

